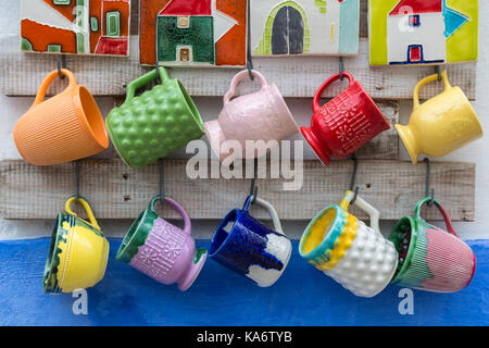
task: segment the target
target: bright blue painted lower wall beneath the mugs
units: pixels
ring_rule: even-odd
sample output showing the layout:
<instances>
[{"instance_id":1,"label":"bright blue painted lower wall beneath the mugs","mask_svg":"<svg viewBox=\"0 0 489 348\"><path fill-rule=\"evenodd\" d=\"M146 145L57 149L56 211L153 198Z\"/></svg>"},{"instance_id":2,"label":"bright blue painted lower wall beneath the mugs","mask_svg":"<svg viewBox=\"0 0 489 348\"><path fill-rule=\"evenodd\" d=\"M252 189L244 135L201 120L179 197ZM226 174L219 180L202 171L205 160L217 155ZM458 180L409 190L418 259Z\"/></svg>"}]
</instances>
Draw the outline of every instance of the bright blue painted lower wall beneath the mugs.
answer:
<instances>
[{"instance_id":1,"label":"bright blue painted lower wall beneath the mugs","mask_svg":"<svg viewBox=\"0 0 489 348\"><path fill-rule=\"evenodd\" d=\"M0 243L1 325L489 325L489 240L469 241L477 256L473 283L456 294L414 291L414 315L398 311L400 287L363 299L305 263L293 244L283 277L259 288L209 260L187 293L163 286L114 260L88 290L88 315L74 299L41 290L49 239ZM198 243L209 247L209 243Z\"/></svg>"}]
</instances>

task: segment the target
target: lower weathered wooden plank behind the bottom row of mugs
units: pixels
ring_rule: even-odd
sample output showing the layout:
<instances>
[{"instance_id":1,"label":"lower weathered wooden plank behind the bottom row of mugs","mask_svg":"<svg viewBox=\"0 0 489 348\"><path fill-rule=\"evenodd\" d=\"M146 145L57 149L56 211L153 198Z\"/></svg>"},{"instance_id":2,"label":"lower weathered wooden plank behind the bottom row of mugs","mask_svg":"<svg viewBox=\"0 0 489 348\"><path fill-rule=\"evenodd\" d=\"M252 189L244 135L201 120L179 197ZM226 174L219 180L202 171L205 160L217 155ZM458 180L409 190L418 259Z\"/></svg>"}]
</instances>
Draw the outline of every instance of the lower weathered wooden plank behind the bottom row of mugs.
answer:
<instances>
[{"instance_id":1,"label":"lower weathered wooden plank behind the bottom row of mugs","mask_svg":"<svg viewBox=\"0 0 489 348\"><path fill-rule=\"evenodd\" d=\"M250 179L199 178L186 174L185 160L165 161L166 194L179 201L193 219L222 219L242 204ZM217 162L214 162L217 164ZM80 165L79 191L93 206L99 219L135 219L159 191L158 165L134 170L121 160L85 160ZM303 162L300 190L284 190L284 179L258 179L260 197L271 201L284 220L309 220L326 204L336 203L350 184L352 161L325 167L318 161ZM252 173L252 171L250 171ZM412 214L425 195L426 166L401 161L361 161L356 184L363 198L384 220ZM34 166L24 161L0 162L0 216L52 219L75 190L73 163ZM431 186L454 221L474 220L475 164L435 162ZM360 217L365 217L359 213ZM176 217L164 212L164 216ZM266 217L266 213L256 212ZM440 219L434 210L427 214Z\"/></svg>"}]
</instances>

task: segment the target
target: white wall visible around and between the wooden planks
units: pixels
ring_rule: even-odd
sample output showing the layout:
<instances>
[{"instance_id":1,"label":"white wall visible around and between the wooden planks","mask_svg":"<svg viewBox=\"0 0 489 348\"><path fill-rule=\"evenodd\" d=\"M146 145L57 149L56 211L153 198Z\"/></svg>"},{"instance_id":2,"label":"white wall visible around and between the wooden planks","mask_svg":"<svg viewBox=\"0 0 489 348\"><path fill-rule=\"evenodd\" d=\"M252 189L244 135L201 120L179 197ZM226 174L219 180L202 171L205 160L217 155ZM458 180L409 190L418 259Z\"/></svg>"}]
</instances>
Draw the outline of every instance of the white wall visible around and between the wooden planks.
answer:
<instances>
[{"instance_id":1,"label":"white wall visible around and between the wooden planks","mask_svg":"<svg viewBox=\"0 0 489 348\"><path fill-rule=\"evenodd\" d=\"M12 0L0 0L0 8L11 8ZM480 18L489 16L489 2L479 1ZM0 18L0 33L2 34L18 34L17 13L9 13L9 17L2 15ZM489 23L480 22L480 42L485 45L479 46L479 63L477 74L477 101L474 102L474 108L479 114L482 126L489 132L489 98L487 90L489 90L489 45L485 38L489 37ZM1 49L1 48L0 48ZM348 69L348 66L347 66ZM331 72L333 73L333 72ZM34 98L8 98L0 96L0 110L2 111L2 126L0 127L0 160L2 159L18 159L20 156L13 145L12 128ZM289 104L297 122L301 125L306 125L311 117L311 101L312 99L288 99ZM98 98L98 102L102 112L106 115L111 108L111 98ZM221 108L221 98L196 98L197 105L202 112L204 120L214 119ZM401 122L408 123L411 113L411 102L405 101L401 103ZM298 136L299 138L299 136ZM476 222L473 223L456 223L456 232L465 239L489 238L487 231L486 216L489 211L489 135L484 139L478 140L450 156L440 160L443 161L471 161L477 163L477 182L476 182ZM314 158L314 154L309 151L309 158ZM409 159L404 153L404 159ZM246 195L246 192L243 192ZM327 204L329 202L325 202ZM61 207L60 207L61 208ZM234 207L229 207L231 209ZM414 207L413 207L414 208ZM142 207L141 207L142 209ZM53 217L57 212L53 212ZM136 216L135 216L136 217ZM51 221L4 221L0 220L0 239L15 239L15 238L33 238L39 236L48 236L51 233ZM193 233L198 238L210 238L213 229L217 226L217 221L192 221ZM284 222L284 229L286 234L293 238L299 238L303 228L306 226L306 221L303 222ZM108 236L123 236L125 231L129 227L129 221L102 221L101 225ZM384 233L388 233L391 223L383 223Z\"/></svg>"}]
</instances>

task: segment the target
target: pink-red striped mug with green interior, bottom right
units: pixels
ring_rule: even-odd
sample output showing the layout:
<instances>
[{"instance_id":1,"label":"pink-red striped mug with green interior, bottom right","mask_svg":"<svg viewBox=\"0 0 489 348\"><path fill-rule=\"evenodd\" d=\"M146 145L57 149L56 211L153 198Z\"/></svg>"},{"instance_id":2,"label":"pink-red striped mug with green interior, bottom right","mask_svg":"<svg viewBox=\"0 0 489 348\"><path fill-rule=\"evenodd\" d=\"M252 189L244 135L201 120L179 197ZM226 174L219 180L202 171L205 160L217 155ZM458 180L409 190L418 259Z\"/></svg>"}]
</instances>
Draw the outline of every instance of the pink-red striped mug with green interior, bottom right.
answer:
<instances>
[{"instance_id":1,"label":"pink-red striped mug with green interior, bottom right","mask_svg":"<svg viewBox=\"0 0 489 348\"><path fill-rule=\"evenodd\" d=\"M435 293L455 293L465 288L474 277L476 257L453 229L450 216L438 200L447 231L428 224L421 217L421 208L430 201L422 199L414 217L402 217L389 239L399 252L399 266L393 284Z\"/></svg>"}]
</instances>

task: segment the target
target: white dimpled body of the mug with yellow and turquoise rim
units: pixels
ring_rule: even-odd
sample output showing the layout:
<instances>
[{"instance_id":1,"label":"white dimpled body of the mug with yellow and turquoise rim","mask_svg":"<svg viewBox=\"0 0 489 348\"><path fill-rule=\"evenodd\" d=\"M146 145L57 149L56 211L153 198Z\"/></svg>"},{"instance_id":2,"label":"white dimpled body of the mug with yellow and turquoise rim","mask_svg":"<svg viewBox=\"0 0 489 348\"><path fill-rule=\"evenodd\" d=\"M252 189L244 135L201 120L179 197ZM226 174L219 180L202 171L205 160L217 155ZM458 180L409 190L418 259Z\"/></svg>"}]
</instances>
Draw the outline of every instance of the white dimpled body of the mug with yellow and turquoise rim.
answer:
<instances>
[{"instance_id":1,"label":"white dimpled body of the mug with yellow and turquoise rim","mask_svg":"<svg viewBox=\"0 0 489 348\"><path fill-rule=\"evenodd\" d=\"M359 220L351 248L331 271L324 273L356 296L374 297L392 279L397 264L393 244Z\"/></svg>"}]
</instances>

